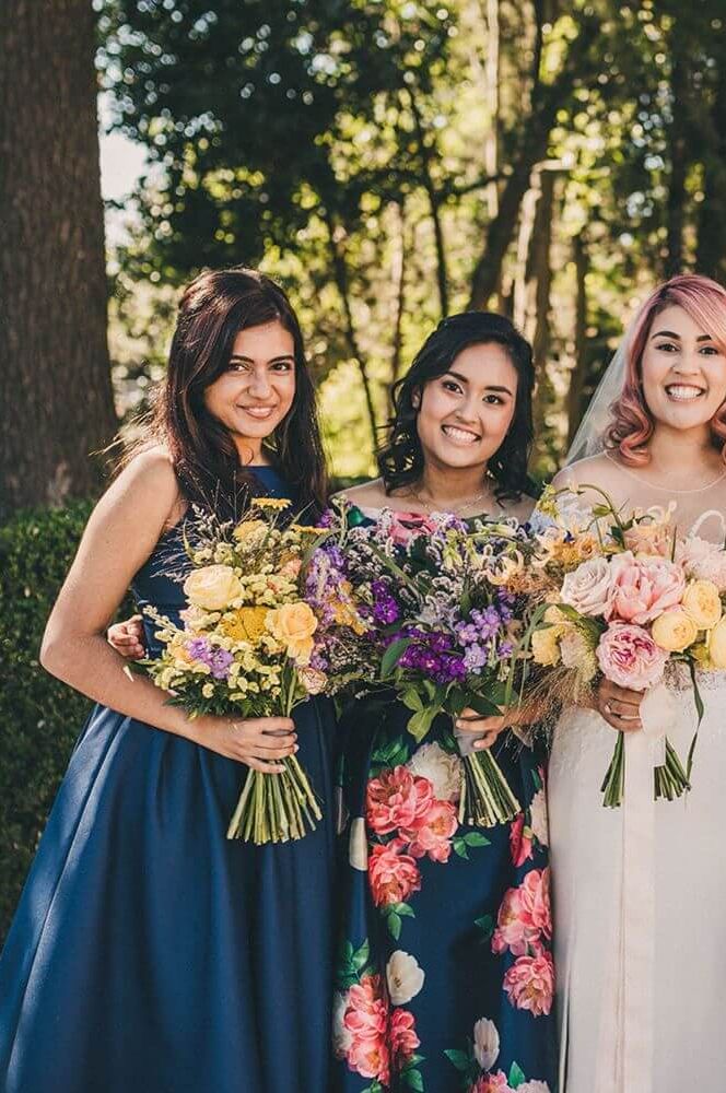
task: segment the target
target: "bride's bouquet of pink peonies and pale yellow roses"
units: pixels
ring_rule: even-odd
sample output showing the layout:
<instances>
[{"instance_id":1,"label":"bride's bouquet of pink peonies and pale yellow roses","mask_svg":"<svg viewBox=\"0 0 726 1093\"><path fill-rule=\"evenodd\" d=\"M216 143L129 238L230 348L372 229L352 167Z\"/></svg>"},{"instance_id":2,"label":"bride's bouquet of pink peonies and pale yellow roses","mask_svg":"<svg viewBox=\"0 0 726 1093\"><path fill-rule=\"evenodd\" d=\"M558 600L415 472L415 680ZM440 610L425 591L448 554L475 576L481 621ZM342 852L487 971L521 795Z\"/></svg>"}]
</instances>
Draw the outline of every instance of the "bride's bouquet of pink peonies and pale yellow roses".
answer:
<instances>
[{"instance_id":1,"label":"bride's bouquet of pink peonies and pale yellow roses","mask_svg":"<svg viewBox=\"0 0 726 1093\"><path fill-rule=\"evenodd\" d=\"M562 518L559 491L540 508L554 526L538 536L535 566L548 573L549 606L540 609L531 632L536 663L574 678L575 696L593 689L599 675L647 692L641 706L646 719L663 720L661 684L670 666L684 665L693 684L699 717L703 704L696 669L726 667L726 551L678 534L675 506L618 513L607 494L579 521ZM579 695L577 694L579 692ZM652 706L652 709L648 707ZM651 716L653 715L653 716ZM657 728L657 726L656 726ZM665 762L654 769L656 798L672 800L690 788L696 733L686 765L665 740ZM624 740L618 733L612 762L602 783L604 803L617 808L624 788Z\"/></svg>"}]
</instances>

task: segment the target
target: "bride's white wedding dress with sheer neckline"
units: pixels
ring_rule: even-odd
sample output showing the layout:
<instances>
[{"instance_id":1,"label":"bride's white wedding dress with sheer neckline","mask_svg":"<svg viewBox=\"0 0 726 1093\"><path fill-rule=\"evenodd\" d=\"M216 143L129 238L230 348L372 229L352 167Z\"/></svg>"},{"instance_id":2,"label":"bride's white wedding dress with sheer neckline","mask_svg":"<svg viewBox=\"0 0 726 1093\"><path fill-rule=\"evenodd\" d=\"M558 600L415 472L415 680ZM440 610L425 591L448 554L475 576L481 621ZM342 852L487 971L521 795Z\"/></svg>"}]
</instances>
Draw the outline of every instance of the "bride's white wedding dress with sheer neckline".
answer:
<instances>
[{"instance_id":1,"label":"bride's white wedding dress with sheer neckline","mask_svg":"<svg viewBox=\"0 0 726 1093\"><path fill-rule=\"evenodd\" d=\"M628 498L631 508L669 500L635 483ZM724 480L676 500L681 528L723 541ZM699 513L710 515L698 521ZM684 762L696 713L681 667L669 684L668 738ZM698 682L705 713L692 789L680 800L653 801L663 743L635 732L625 738L623 804L604 808L616 731L573 707L554 730L560 1093L726 1091L726 672Z\"/></svg>"}]
</instances>

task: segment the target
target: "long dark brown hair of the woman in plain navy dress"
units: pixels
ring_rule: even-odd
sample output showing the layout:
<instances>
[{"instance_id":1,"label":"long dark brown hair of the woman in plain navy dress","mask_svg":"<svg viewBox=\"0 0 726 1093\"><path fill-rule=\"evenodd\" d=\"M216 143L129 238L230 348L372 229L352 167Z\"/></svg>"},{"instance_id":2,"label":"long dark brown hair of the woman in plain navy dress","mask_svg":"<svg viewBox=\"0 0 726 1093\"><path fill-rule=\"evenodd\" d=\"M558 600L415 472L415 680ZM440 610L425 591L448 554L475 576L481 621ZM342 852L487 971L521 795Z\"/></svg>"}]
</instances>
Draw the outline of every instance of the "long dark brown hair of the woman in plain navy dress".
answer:
<instances>
[{"instance_id":1,"label":"long dark brown hair of the woman in plain navy dress","mask_svg":"<svg viewBox=\"0 0 726 1093\"><path fill-rule=\"evenodd\" d=\"M235 267L200 273L184 292L151 416L152 437L168 449L187 500L212 505L220 516L238 516L250 492L264 491L254 471L239 466L232 436L207 409L204 391L229 367L237 333L274 320L293 338L295 397L266 447L295 507L309 515L325 506L325 456L297 316L279 284L257 270Z\"/></svg>"}]
</instances>

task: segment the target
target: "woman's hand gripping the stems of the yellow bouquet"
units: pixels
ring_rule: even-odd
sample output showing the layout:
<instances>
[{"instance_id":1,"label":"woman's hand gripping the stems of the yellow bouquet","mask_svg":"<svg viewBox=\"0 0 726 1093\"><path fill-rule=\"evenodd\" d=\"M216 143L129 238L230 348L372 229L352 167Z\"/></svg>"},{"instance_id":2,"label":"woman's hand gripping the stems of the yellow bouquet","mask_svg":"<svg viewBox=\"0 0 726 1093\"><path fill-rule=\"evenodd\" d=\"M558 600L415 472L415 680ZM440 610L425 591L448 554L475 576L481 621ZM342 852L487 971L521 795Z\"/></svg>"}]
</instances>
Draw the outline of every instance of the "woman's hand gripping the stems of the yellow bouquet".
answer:
<instances>
[{"instance_id":1,"label":"woman's hand gripping the stems of the yellow bouquet","mask_svg":"<svg viewBox=\"0 0 726 1093\"><path fill-rule=\"evenodd\" d=\"M294 755L298 747L291 717L195 717L187 734L202 748L265 774L282 774L284 766L274 760Z\"/></svg>"}]
</instances>

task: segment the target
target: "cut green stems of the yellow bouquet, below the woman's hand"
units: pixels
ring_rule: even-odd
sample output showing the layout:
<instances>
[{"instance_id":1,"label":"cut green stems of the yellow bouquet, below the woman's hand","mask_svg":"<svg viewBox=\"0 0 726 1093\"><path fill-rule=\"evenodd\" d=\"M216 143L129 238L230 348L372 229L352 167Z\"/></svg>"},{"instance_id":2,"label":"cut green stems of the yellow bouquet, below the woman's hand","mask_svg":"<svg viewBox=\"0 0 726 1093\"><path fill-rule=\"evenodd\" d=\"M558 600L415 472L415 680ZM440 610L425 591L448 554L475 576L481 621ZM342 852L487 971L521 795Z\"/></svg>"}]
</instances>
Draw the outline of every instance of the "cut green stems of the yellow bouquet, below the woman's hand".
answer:
<instances>
[{"instance_id":1,"label":"cut green stems of the yellow bouquet, below the woman's hand","mask_svg":"<svg viewBox=\"0 0 726 1093\"><path fill-rule=\"evenodd\" d=\"M281 774L248 772L227 838L264 846L304 838L315 831L323 812L309 778L295 755L281 762Z\"/></svg>"}]
</instances>

